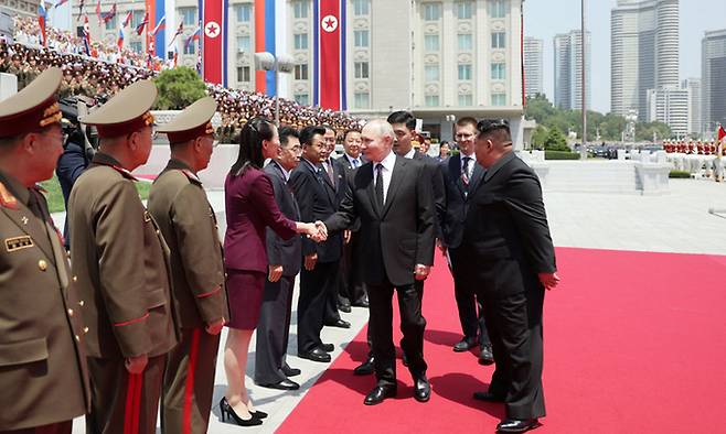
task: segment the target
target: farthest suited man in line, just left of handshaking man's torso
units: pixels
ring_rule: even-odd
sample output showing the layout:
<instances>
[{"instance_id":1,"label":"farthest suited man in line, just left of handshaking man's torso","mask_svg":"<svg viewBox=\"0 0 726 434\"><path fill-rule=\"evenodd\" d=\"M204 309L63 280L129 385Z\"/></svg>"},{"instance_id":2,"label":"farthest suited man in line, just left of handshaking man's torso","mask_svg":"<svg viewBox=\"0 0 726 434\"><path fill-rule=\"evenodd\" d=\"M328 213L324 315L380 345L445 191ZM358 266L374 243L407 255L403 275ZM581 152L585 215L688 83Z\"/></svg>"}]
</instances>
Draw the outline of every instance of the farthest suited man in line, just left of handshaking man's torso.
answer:
<instances>
[{"instance_id":1,"label":"farthest suited man in line, just left of handshaking man's torso","mask_svg":"<svg viewBox=\"0 0 726 434\"><path fill-rule=\"evenodd\" d=\"M335 160L335 164L345 173L345 178L350 180L355 170L366 163L367 160L361 155L361 131L348 130L343 138L343 149L345 153ZM342 188L344 196L344 188ZM343 232L343 258L341 259L341 285L339 303L341 311L345 312L345 306L350 312L350 306L369 307L369 297L365 292L365 283L361 273L361 221L356 219L350 229Z\"/></svg>"}]
</instances>

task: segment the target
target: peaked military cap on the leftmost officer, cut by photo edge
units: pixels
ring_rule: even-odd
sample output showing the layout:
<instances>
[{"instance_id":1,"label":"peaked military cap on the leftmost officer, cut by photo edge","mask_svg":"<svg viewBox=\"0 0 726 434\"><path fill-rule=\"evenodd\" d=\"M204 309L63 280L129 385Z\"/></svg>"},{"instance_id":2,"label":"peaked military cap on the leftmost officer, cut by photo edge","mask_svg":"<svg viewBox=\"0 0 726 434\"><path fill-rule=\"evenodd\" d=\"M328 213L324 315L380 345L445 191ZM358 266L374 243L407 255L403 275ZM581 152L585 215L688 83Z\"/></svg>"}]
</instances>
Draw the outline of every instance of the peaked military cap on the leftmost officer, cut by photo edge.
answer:
<instances>
[{"instance_id":1,"label":"peaked military cap on the leftmost officer, cut by photo edge","mask_svg":"<svg viewBox=\"0 0 726 434\"><path fill-rule=\"evenodd\" d=\"M55 93L63 73L47 68L30 85L0 101L0 138L9 138L38 130L61 121L63 115Z\"/></svg>"}]
</instances>

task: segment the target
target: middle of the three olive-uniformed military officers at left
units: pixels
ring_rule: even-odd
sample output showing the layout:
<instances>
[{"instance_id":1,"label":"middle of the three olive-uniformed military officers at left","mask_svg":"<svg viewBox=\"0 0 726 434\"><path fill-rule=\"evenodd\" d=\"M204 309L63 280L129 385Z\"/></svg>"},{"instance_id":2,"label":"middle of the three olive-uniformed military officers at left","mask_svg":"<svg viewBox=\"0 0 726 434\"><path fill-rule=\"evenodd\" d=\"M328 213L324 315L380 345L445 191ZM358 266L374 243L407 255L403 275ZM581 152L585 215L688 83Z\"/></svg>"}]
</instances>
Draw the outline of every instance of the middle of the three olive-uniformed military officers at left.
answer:
<instances>
[{"instance_id":1,"label":"middle of the three olive-uniformed military officers at left","mask_svg":"<svg viewBox=\"0 0 726 434\"><path fill-rule=\"evenodd\" d=\"M100 138L68 199L73 271L95 326L86 335L94 434L156 432L167 352L178 343L169 248L130 173L149 158L156 98L153 83L140 80L79 119Z\"/></svg>"}]
</instances>

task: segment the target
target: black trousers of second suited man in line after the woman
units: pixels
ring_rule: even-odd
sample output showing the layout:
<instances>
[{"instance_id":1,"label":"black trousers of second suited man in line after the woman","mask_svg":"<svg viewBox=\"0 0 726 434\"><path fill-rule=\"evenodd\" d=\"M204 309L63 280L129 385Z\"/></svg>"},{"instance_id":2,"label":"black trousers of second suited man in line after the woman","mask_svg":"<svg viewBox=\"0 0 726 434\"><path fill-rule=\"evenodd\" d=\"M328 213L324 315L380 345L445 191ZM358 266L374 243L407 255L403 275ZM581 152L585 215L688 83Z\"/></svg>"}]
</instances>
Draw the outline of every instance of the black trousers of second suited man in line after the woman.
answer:
<instances>
[{"instance_id":1,"label":"black trousers of second suited man in line after the woman","mask_svg":"<svg viewBox=\"0 0 726 434\"><path fill-rule=\"evenodd\" d=\"M322 345L320 330L331 294L338 290L339 261L318 262L312 271L300 272L298 297L298 351L309 352Z\"/></svg>"}]
</instances>

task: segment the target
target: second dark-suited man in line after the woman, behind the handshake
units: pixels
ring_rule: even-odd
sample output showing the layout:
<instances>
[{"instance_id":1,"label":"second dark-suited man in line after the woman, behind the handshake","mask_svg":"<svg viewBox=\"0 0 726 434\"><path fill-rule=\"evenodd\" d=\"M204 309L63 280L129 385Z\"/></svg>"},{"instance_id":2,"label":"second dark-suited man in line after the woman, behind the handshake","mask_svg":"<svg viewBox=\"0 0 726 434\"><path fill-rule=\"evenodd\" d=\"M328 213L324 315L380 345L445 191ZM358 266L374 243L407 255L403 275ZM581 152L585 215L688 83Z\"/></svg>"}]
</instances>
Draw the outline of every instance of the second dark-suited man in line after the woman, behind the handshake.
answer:
<instances>
[{"instance_id":1,"label":"second dark-suited man in line after the woman, behind the handshake","mask_svg":"<svg viewBox=\"0 0 726 434\"><path fill-rule=\"evenodd\" d=\"M303 221L324 220L338 209L334 192L327 185L321 153L325 145L322 127L306 127L300 132L302 161L292 171L289 185L300 208ZM320 340L325 303L338 290L339 261L342 253L340 234L331 235L327 241L314 243L302 240L303 270L300 273L300 297L298 299L298 355L302 358L328 362L332 344Z\"/></svg>"}]
</instances>

